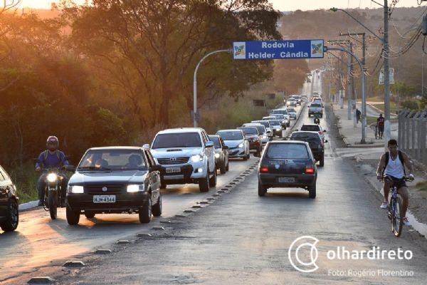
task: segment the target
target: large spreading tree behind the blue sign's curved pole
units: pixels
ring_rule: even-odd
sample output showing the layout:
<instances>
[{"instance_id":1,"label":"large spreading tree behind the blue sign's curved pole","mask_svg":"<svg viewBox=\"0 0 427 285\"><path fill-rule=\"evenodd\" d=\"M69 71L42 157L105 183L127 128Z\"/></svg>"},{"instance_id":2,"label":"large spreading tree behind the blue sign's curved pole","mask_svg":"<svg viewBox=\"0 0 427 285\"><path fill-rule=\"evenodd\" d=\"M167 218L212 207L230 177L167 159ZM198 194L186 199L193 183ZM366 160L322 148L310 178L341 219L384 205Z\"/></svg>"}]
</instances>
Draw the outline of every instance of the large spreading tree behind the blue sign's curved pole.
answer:
<instances>
[{"instance_id":1,"label":"large spreading tree behind the blue sign's curved pole","mask_svg":"<svg viewBox=\"0 0 427 285\"><path fill-rule=\"evenodd\" d=\"M100 68L98 76L122 90L139 128L170 125L171 115L189 113L192 75L206 53L236 38L280 38L280 14L265 0L95 0L65 11L71 43ZM239 96L271 76L268 63L204 64L210 68L199 74L201 104L218 94Z\"/></svg>"}]
</instances>

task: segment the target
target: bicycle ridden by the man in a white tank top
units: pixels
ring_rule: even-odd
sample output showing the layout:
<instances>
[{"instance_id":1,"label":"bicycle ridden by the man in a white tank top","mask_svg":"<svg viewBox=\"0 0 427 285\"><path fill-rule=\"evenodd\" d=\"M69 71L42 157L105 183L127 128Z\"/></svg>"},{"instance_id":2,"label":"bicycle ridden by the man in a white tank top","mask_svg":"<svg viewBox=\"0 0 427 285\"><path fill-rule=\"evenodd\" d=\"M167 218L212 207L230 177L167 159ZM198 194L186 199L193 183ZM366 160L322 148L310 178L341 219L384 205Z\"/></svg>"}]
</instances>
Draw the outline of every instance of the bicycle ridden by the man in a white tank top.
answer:
<instances>
[{"instance_id":1,"label":"bicycle ridden by the man in a white tank top","mask_svg":"<svg viewBox=\"0 0 427 285\"><path fill-rule=\"evenodd\" d=\"M389 212L387 213L387 217L389 217L391 221L391 232L394 232L396 237L400 237L402 233L402 226L404 224L404 215L402 213L402 201L401 197L399 197L397 192L397 184L401 181L412 181L410 177L404 176L401 180L393 180L389 176L384 176L382 180L389 180L393 182L391 185L391 197L389 202Z\"/></svg>"}]
</instances>

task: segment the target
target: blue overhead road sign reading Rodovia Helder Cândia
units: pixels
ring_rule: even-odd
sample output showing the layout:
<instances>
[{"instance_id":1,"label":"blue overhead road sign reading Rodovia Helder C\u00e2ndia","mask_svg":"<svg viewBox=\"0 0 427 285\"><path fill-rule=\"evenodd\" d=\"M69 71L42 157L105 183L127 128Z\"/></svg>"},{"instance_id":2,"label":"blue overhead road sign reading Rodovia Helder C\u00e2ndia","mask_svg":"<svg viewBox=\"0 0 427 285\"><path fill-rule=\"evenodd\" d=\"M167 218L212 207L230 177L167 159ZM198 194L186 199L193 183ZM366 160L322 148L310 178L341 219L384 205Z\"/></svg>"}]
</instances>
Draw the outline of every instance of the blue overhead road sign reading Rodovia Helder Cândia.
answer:
<instances>
[{"instance_id":1,"label":"blue overhead road sign reading Rodovia Helder C\u00e2ndia","mask_svg":"<svg viewBox=\"0 0 427 285\"><path fill-rule=\"evenodd\" d=\"M323 40L234 41L233 58L243 60L323 58Z\"/></svg>"}]
</instances>

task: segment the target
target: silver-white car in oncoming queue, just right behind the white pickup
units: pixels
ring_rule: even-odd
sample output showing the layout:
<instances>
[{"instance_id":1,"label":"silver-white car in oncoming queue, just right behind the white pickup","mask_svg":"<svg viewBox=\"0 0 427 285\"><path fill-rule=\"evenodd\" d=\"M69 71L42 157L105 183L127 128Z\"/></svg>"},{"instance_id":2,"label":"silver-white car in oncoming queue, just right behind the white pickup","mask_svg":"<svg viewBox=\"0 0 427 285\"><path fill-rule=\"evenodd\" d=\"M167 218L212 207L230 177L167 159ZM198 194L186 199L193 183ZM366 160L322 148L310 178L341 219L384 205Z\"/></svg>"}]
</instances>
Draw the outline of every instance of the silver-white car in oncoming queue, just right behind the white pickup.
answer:
<instances>
[{"instance_id":1,"label":"silver-white car in oncoming queue, just right behind the white pickup","mask_svg":"<svg viewBox=\"0 0 427 285\"><path fill-rule=\"evenodd\" d=\"M228 157L241 157L243 160L248 160L248 158L251 157L251 152L249 151L249 142L245 139L243 130L218 130L216 135L220 135L221 138L223 138L226 146L228 146Z\"/></svg>"}]
</instances>

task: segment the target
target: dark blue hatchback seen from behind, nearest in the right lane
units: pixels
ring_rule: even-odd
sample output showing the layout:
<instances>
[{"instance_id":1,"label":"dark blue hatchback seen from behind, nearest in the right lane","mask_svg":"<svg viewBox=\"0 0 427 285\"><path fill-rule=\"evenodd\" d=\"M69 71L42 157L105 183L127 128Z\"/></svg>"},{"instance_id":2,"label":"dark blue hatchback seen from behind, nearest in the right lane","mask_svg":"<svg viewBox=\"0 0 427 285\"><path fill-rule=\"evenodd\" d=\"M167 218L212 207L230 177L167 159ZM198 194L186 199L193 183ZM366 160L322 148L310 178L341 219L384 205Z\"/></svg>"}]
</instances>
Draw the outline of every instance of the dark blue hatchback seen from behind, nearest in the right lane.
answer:
<instances>
[{"instance_id":1,"label":"dark blue hatchback seen from behind, nearest in the right lane","mask_svg":"<svg viewBox=\"0 0 427 285\"><path fill-rule=\"evenodd\" d=\"M265 146L258 165L258 196L273 187L301 187L315 198L316 180L316 161L307 142L273 140Z\"/></svg>"}]
</instances>

